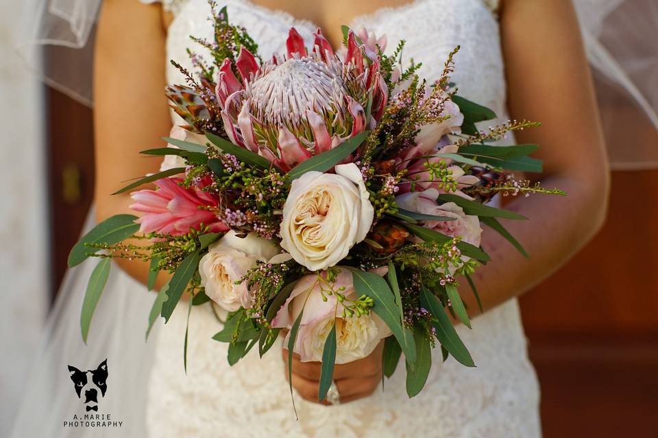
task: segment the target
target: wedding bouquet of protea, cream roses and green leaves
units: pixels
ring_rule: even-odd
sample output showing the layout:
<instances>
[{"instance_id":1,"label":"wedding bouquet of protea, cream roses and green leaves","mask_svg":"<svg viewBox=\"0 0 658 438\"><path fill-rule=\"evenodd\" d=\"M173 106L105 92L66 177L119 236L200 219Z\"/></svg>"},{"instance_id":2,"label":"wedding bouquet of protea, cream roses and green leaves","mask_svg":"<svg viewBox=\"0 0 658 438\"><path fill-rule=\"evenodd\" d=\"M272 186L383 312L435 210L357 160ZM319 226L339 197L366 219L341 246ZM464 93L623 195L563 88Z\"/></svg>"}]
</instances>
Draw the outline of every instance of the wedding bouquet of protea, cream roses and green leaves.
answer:
<instances>
[{"instance_id":1,"label":"wedding bouquet of protea, cream roses and green leaves","mask_svg":"<svg viewBox=\"0 0 658 438\"><path fill-rule=\"evenodd\" d=\"M287 53L264 60L226 8L211 6L214 40L193 38L210 56L188 52L195 72L173 62L187 83L167 88L185 125L165 138L170 147L142 152L164 156L162 171L117 192L153 183L132 193L141 216L112 216L71 251L69 266L100 257L82 306L85 342L110 260L122 257L150 261L149 289L171 274L149 331L184 294L188 309L228 312L213 339L229 343L230 365L255 346L264 355L287 329L289 365L293 352L322 363L319 400L335 363L382 339L385 376L404 353L409 396L424 386L431 348L474 366L452 319L470 327L461 281L479 302L481 224L526 255L498 222L525 218L487 202L563 194L509 174L541 172L528 157L537 145L487 143L537 124L478 130L496 115L450 83L459 47L432 82L420 64L402 66L404 42L385 55L385 38L347 27L339 51L320 29L306 47L293 28Z\"/></svg>"}]
</instances>

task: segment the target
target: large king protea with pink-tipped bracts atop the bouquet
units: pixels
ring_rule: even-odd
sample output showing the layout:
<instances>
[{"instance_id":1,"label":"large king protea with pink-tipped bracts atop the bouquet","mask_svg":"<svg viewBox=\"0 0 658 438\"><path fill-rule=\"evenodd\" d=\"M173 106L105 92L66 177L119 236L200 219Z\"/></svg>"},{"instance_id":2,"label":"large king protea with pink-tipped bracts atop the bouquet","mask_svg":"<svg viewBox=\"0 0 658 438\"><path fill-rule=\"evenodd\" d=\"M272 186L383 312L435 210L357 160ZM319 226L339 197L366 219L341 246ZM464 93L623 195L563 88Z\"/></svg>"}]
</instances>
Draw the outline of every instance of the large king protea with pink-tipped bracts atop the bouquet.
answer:
<instances>
[{"instance_id":1,"label":"large king protea with pink-tipped bracts atop the bouquet","mask_svg":"<svg viewBox=\"0 0 658 438\"><path fill-rule=\"evenodd\" d=\"M258 65L244 47L221 65L215 92L228 138L287 172L374 125L388 90L379 61L352 31L344 59L317 29L313 51L294 28L287 55ZM369 107L369 112L366 109Z\"/></svg>"}]
</instances>

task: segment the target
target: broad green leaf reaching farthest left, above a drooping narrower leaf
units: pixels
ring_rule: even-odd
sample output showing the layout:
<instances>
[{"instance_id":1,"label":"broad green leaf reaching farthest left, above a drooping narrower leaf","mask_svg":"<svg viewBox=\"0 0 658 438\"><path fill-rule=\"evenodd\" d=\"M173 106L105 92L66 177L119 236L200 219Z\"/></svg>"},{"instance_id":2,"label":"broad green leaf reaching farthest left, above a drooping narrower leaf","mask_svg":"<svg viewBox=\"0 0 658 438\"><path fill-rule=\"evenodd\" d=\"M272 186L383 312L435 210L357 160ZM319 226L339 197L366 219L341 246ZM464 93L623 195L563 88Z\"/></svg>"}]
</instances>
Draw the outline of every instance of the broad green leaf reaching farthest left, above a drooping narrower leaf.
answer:
<instances>
[{"instance_id":1,"label":"broad green leaf reaching farthest left, above a drooping narrower leaf","mask_svg":"<svg viewBox=\"0 0 658 438\"><path fill-rule=\"evenodd\" d=\"M92 248L88 244L113 245L136 233L139 224L136 224L135 220L137 220L137 216L132 214L117 214L97 224L71 249L69 268L79 265L89 257L89 254L95 254L100 250L100 248Z\"/></svg>"}]
</instances>

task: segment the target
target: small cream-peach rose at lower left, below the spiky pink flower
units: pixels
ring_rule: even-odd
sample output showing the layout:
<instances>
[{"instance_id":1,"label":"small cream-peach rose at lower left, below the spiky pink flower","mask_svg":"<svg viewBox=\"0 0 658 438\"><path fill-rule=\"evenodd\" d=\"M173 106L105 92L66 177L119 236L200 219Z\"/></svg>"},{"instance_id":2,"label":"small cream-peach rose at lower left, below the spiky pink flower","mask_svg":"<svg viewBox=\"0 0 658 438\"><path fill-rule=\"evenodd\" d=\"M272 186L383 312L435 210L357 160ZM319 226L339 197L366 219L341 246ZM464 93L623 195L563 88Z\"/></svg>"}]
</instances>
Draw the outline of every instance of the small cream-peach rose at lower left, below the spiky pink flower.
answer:
<instances>
[{"instance_id":1,"label":"small cream-peach rose at lower left, below the spiky pink flower","mask_svg":"<svg viewBox=\"0 0 658 438\"><path fill-rule=\"evenodd\" d=\"M287 254L280 254L278 245L255 233L238 237L231 230L210 245L199 262L201 283L206 295L223 309L248 308L252 305L252 295L247 283L236 285L235 282L254 268L256 261L282 263L289 258Z\"/></svg>"}]
</instances>

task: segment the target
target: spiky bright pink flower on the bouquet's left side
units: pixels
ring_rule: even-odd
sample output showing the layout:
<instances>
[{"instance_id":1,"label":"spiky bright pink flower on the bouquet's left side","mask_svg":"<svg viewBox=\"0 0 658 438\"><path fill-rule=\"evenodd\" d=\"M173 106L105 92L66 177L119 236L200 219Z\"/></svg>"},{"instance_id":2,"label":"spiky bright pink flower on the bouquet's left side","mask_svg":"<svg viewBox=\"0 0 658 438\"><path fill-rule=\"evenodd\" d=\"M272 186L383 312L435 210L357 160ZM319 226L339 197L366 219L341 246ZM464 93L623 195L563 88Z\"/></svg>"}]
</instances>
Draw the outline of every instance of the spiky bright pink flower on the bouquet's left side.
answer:
<instances>
[{"instance_id":1,"label":"spiky bright pink flower on the bouquet's left side","mask_svg":"<svg viewBox=\"0 0 658 438\"><path fill-rule=\"evenodd\" d=\"M202 179L194 188L180 185L181 177L162 178L156 181L156 190L139 190L130 195L135 201L131 209L144 215L137 220L142 233L158 232L169 235L184 235L201 224L211 233L228 231L226 224L202 207L217 207L219 200L202 190L208 183Z\"/></svg>"}]
</instances>

